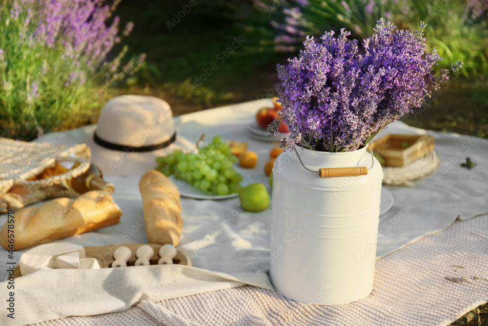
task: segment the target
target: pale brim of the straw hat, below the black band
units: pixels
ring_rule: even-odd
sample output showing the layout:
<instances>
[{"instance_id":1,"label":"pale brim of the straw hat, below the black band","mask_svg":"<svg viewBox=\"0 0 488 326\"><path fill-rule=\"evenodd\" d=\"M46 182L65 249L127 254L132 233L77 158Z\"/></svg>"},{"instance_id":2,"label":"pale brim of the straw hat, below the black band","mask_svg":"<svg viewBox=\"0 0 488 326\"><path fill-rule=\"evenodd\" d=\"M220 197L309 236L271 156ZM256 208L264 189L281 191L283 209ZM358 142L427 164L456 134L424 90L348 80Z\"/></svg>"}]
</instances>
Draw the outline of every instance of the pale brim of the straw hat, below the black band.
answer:
<instances>
[{"instance_id":1,"label":"pale brim of the straw hat, below the black band","mask_svg":"<svg viewBox=\"0 0 488 326\"><path fill-rule=\"evenodd\" d=\"M93 140L93 134L83 139L81 143L88 145L91 150L91 161L103 175L143 174L156 168L156 158L159 156L169 155L176 149L189 152L196 148L195 143L178 134L175 141L167 147L150 152L134 152L130 148L127 151L111 150L97 144Z\"/></svg>"}]
</instances>

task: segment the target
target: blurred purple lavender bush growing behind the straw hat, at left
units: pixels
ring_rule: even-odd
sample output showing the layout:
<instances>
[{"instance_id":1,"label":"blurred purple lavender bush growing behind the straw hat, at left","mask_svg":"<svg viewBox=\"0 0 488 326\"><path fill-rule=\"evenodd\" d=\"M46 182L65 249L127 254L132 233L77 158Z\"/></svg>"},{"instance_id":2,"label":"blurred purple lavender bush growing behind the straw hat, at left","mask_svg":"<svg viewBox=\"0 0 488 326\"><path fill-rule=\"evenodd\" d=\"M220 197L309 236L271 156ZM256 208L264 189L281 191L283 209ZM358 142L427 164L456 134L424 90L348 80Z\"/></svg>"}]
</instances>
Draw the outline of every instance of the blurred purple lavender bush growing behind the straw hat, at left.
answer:
<instances>
[{"instance_id":1,"label":"blurred purple lavender bush growing behind the straw hat, at left","mask_svg":"<svg viewBox=\"0 0 488 326\"><path fill-rule=\"evenodd\" d=\"M108 91L144 55L122 64L120 0L4 0L0 3L0 136L31 140L86 124ZM122 32L127 36L133 24Z\"/></svg>"}]
</instances>

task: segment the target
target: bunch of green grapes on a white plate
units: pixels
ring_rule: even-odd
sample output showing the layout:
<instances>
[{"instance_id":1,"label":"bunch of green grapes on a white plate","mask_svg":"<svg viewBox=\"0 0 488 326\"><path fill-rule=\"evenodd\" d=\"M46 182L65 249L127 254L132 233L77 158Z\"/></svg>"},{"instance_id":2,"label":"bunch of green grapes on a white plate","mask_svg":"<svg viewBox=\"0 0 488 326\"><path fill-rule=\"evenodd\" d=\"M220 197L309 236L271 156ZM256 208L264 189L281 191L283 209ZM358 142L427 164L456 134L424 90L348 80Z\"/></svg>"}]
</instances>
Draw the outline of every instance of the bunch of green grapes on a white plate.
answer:
<instances>
[{"instance_id":1,"label":"bunch of green grapes on a white plate","mask_svg":"<svg viewBox=\"0 0 488 326\"><path fill-rule=\"evenodd\" d=\"M198 143L197 143L198 144ZM189 185L211 195L238 194L242 189L242 174L234 170L237 157L221 136L215 136L198 154L175 150L156 158L156 170L166 176L174 175Z\"/></svg>"}]
</instances>

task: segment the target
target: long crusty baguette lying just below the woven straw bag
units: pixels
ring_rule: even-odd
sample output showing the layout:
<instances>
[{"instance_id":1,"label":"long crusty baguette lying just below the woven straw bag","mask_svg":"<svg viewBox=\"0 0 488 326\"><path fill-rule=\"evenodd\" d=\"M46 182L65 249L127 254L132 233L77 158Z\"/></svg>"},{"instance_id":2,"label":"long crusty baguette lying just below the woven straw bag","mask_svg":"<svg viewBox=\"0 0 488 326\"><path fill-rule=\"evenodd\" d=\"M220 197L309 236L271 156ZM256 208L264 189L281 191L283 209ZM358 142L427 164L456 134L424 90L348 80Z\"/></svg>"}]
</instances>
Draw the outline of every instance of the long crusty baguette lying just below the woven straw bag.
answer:
<instances>
[{"instance_id":1,"label":"long crusty baguette lying just below the woven straw bag","mask_svg":"<svg viewBox=\"0 0 488 326\"><path fill-rule=\"evenodd\" d=\"M52 240L119 223L122 212L112 197L89 191L77 198L56 198L39 207L22 208L14 214L14 249L21 250ZM10 232L12 233L12 232ZM0 230L0 244L7 249L8 224Z\"/></svg>"}]
</instances>

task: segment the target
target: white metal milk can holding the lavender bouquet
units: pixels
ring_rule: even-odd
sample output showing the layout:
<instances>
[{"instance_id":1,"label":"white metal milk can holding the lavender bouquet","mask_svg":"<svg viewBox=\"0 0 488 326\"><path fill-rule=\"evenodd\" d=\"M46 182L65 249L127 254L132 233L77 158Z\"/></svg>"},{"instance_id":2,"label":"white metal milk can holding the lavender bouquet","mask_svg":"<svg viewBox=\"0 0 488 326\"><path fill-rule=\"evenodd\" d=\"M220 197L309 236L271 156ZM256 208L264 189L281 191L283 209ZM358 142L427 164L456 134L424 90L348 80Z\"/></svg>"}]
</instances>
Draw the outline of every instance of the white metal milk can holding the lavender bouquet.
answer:
<instances>
[{"instance_id":1,"label":"white metal milk can holding the lavender bouquet","mask_svg":"<svg viewBox=\"0 0 488 326\"><path fill-rule=\"evenodd\" d=\"M368 170L320 177L305 167ZM382 179L381 165L366 147L317 152L296 146L278 156L269 268L278 292L311 304L346 304L371 293Z\"/></svg>"}]
</instances>

